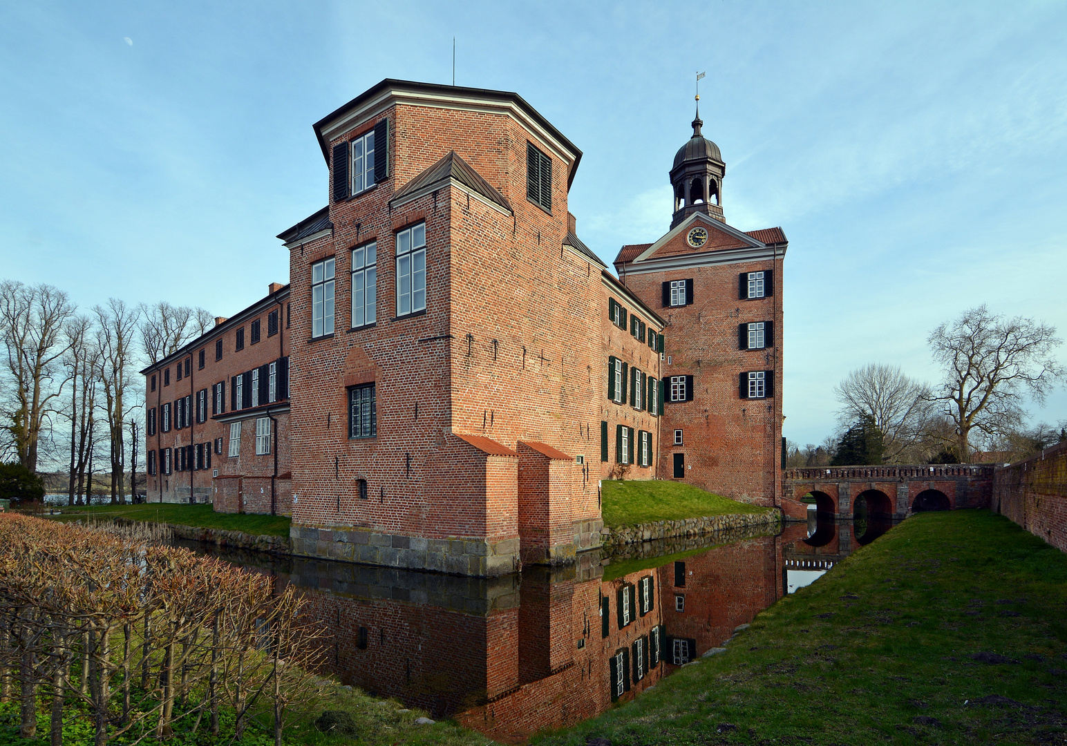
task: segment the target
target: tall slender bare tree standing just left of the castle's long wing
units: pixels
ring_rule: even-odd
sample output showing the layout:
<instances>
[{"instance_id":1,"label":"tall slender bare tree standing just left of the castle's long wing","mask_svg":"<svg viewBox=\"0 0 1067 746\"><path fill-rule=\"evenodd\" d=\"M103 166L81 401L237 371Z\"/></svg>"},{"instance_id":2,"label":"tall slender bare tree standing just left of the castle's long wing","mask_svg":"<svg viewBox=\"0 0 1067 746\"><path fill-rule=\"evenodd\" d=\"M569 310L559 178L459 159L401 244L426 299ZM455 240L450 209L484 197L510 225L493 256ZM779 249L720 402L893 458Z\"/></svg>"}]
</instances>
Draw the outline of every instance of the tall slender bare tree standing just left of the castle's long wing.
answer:
<instances>
[{"instance_id":1,"label":"tall slender bare tree standing just left of the castle's long wing","mask_svg":"<svg viewBox=\"0 0 1067 746\"><path fill-rule=\"evenodd\" d=\"M111 446L111 502L126 502L126 440L124 427L129 413L139 407L134 370L133 337L141 308L112 298L107 306L93 308L97 318L100 348L100 384Z\"/></svg>"}]
</instances>

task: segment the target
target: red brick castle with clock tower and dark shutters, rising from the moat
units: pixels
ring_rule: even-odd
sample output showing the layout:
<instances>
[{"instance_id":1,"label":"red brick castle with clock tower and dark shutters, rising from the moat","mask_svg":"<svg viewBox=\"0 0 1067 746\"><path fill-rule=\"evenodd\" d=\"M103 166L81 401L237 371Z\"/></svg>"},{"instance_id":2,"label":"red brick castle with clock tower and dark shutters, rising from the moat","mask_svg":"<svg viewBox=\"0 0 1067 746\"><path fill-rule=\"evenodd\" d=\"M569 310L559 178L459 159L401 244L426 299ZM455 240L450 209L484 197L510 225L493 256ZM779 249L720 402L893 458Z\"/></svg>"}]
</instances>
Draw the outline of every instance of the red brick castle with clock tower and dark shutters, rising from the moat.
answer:
<instances>
[{"instance_id":1,"label":"red brick castle with clock tower and dark shutters, rising from the moat","mask_svg":"<svg viewBox=\"0 0 1067 746\"><path fill-rule=\"evenodd\" d=\"M568 211L580 150L519 95L384 80L320 120L290 285L143 371L149 499L483 576L599 545L603 479L775 504L786 241L724 222L701 125L616 277Z\"/></svg>"}]
</instances>

